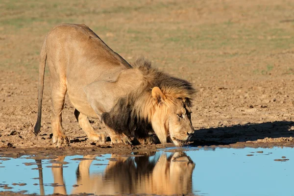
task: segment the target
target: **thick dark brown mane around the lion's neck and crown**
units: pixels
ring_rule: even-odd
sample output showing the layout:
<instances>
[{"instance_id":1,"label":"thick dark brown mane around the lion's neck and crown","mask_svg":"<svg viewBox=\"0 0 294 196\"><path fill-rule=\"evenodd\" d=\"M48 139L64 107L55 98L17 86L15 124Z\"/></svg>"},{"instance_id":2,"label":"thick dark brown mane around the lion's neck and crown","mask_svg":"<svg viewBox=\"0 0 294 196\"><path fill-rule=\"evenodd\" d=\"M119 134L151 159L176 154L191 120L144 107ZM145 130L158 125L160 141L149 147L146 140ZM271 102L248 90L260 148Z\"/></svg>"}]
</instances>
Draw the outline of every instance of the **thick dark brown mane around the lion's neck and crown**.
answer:
<instances>
[{"instance_id":1,"label":"thick dark brown mane around the lion's neck and crown","mask_svg":"<svg viewBox=\"0 0 294 196\"><path fill-rule=\"evenodd\" d=\"M143 73L143 85L127 97L119 98L110 112L102 114L101 119L119 134L145 138L152 130L145 111L148 108L145 107L152 107L151 103L146 102L152 100L153 87L159 87L167 97L185 98L189 107L192 106L196 91L190 82L151 68L151 62L144 58L138 59L133 64L133 69L139 69Z\"/></svg>"}]
</instances>

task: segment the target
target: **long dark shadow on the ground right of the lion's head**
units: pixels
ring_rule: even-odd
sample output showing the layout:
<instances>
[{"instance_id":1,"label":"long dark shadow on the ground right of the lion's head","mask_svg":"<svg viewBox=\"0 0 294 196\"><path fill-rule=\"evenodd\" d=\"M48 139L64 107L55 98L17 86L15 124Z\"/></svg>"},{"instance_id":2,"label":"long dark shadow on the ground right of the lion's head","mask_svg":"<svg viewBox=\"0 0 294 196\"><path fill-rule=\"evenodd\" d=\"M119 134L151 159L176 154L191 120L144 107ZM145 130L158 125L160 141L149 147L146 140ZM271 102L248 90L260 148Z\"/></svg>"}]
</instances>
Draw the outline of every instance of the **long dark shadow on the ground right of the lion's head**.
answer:
<instances>
[{"instance_id":1,"label":"long dark shadow on the ground right of the lion's head","mask_svg":"<svg viewBox=\"0 0 294 196\"><path fill-rule=\"evenodd\" d=\"M276 121L202 128L195 130L192 145L230 145L237 142L257 141L259 139L264 139L263 142L289 142L291 140L294 142L294 139L290 138L294 137L293 126L294 122L292 121Z\"/></svg>"}]
</instances>

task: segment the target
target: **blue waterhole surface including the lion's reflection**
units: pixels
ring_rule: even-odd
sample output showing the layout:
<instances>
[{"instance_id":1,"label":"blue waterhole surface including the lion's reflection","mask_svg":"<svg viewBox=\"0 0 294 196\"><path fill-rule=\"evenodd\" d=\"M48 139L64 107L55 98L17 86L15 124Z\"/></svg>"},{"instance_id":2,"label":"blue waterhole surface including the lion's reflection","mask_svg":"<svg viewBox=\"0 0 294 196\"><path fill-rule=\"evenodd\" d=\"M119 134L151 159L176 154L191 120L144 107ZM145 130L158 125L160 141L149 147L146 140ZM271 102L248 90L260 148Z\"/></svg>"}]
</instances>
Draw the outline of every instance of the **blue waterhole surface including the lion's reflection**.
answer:
<instances>
[{"instance_id":1,"label":"blue waterhole surface including the lion's reflection","mask_svg":"<svg viewBox=\"0 0 294 196\"><path fill-rule=\"evenodd\" d=\"M0 191L41 195L294 195L294 148L174 149L45 160L37 156L0 157Z\"/></svg>"}]
</instances>

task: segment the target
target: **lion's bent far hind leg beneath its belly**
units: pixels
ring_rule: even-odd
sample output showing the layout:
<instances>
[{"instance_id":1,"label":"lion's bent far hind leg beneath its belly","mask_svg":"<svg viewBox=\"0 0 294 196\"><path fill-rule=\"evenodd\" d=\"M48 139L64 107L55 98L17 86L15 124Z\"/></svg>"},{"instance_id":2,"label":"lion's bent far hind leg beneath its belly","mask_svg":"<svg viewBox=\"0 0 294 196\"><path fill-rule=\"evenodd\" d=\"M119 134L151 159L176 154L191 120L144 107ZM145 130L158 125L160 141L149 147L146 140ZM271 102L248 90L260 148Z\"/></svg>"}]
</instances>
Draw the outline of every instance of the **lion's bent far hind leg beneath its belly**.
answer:
<instances>
[{"instance_id":1,"label":"lion's bent far hind leg beneath its belly","mask_svg":"<svg viewBox=\"0 0 294 196\"><path fill-rule=\"evenodd\" d=\"M107 135L103 132L97 133L92 125L89 122L89 119L86 115L80 113L76 109L74 110L74 116L76 121L81 126L83 131L86 133L89 140L98 141L98 142L105 142Z\"/></svg>"}]
</instances>

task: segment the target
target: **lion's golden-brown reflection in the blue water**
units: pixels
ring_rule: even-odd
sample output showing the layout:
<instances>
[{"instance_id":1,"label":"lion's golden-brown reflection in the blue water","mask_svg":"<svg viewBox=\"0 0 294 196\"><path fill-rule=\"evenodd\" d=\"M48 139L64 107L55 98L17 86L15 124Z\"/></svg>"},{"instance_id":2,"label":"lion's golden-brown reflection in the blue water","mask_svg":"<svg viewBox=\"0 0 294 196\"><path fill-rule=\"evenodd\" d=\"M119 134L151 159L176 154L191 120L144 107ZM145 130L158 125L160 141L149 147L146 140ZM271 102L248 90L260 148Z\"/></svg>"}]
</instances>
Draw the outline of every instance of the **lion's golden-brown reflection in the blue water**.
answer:
<instances>
[{"instance_id":1,"label":"lion's golden-brown reflection in the blue water","mask_svg":"<svg viewBox=\"0 0 294 196\"><path fill-rule=\"evenodd\" d=\"M171 155L159 152L137 153L136 157L113 154L103 173L89 172L95 156L84 156L76 170L76 184L72 194L190 194L195 164L184 152ZM63 161L58 157L57 161ZM53 164L53 166L62 164ZM62 168L52 168L54 193L66 194Z\"/></svg>"}]
</instances>

